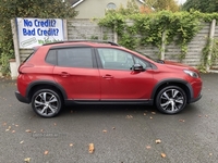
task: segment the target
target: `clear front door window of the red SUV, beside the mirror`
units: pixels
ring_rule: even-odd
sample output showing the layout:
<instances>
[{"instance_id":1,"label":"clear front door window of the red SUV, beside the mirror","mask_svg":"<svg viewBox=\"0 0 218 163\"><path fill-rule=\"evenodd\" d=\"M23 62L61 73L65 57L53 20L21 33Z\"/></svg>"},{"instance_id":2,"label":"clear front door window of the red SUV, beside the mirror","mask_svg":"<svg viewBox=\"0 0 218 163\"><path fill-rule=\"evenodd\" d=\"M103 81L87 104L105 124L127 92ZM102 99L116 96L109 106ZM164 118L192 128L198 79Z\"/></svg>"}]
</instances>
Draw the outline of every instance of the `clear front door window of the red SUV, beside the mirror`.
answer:
<instances>
[{"instance_id":1,"label":"clear front door window of the red SUV, beside the mirror","mask_svg":"<svg viewBox=\"0 0 218 163\"><path fill-rule=\"evenodd\" d=\"M102 68L130 71L134 64L132 54L122 50L99 48L98 53Z\"/></svg>"}]
</instances>

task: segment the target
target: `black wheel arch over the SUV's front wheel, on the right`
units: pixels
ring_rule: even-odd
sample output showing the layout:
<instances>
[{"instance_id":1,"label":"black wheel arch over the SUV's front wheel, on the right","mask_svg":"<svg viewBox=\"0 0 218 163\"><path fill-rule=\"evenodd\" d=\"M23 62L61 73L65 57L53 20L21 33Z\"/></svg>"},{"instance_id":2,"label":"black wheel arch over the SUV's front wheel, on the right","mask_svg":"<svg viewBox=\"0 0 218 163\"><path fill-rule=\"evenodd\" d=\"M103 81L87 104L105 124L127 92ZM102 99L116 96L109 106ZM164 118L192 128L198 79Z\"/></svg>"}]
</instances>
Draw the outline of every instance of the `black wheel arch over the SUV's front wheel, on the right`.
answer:
<instances>
[{"instance_id":1,"label":"black wheel arch over the SUV's front wheel, on the right","mask_svg":"<svg viewBox=\"0 0 218 163\"><path fill-rule=\"evenodd\" d=\"M190 100L193 98L193 95L194 95L192 86L183 79L174 79L174 78L160 80L155 86L153 93L152 93L152 99L154 99L153 101L155 101L157 93L167 86L178 86L178 87L182 88L186 95L186 102L190 103Z\"/></svg>"}]
</instances>

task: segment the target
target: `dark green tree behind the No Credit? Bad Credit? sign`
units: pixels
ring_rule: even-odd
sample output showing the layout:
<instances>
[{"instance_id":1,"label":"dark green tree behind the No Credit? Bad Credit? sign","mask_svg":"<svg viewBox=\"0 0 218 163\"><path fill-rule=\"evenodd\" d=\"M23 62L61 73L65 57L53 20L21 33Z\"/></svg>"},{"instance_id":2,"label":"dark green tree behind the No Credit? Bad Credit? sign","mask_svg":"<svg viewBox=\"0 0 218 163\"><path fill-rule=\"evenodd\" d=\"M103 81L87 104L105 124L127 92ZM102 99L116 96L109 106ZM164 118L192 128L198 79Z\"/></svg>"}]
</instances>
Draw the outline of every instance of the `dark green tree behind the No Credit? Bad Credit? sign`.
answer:
<instances>
[{"instance_id":1,"label":"dark green tree behind the No Credit? Bad Credit? sign","mask_svg":"<svg viewBox=\"0 0 218 163\"><path fill-rule=\"evenodd\" d=\"M14 57L11 20L15 17L68 18L77 14L62 0L1 0L0 1L0 64L9 72L9 59Z\"/></svg>"}]
</instances>

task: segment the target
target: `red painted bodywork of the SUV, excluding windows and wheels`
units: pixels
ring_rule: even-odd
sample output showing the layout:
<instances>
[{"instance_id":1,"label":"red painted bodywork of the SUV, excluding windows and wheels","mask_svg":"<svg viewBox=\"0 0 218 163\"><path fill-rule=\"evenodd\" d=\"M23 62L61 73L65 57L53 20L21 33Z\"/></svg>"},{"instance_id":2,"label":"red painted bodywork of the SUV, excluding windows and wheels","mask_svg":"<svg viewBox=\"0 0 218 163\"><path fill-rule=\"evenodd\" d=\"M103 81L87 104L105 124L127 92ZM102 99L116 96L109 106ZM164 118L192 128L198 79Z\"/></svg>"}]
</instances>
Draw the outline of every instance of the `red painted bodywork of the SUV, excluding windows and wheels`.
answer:
<instances>
[{"instance_id":1,"label":"red painted bodywork of the SUV, excluding windows and wheels","mask_svg":"<svg viewBox=\"0 0 218 163\"><path fill-rule=\"evenodd\" d=\"M61 43L62 45L62 43ZM156 70L145 72L112 71L102 68L73 68L58 67L45 62L45 57L49 48L61 45L41 46L37 52L20 68L17 78L17 89L25 97L29 84L36 80L50 80L61 85L68 99L89 99L89 100L148 100L158 82L164 79L182 79L191 84L194 98L197 98L202 90L202 79L186 75L183 70L197 70L180 63L166 61L166 64L156 63L146 57L124 49L122 47L93 43L93 42L71 42L64 45L86 45L95 47L108 47L125 50L132 54L144 59L154 65ZM198 72L197 72L198 73Z\"/></svg>"}]
</instances>

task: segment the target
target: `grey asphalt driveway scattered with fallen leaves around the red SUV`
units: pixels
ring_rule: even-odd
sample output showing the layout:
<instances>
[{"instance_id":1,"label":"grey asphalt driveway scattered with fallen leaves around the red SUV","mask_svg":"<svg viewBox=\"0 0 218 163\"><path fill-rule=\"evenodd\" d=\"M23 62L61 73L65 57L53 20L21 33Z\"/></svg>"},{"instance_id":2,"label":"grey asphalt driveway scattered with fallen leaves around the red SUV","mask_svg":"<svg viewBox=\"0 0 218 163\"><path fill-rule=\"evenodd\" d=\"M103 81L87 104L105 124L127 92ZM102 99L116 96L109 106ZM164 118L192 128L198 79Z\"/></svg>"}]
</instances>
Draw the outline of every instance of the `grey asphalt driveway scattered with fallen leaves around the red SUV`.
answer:
<instances>
[{"instance_id":1,"label":"grey asphalt driveway scattered with fallen leaves around the red SUV","mask_svg":"<svg viewBox=\"0 0 218 163\"><path fill-rule=\"evenodd\" d=\"M15 82L0 79L0 163L216 163L218 74L202 78L203 98L175 115L80 105L55 118L37 116L15 99Z\"/></svg>"}]
</instances>

